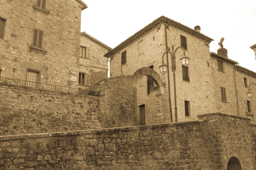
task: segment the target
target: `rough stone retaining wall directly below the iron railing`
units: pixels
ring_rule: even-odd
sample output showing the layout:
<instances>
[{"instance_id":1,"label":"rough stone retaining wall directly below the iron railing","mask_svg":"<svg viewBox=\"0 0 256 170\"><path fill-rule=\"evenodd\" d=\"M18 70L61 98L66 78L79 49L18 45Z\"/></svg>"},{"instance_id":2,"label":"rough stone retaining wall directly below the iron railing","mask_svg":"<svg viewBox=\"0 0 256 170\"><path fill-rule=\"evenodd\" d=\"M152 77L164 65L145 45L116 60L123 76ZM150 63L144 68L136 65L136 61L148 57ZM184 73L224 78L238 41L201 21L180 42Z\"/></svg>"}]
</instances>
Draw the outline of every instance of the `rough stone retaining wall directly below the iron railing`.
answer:
<instances>
[{"instance_id":1,"label":"rough stone retaining wall directly below the iron railing","mask_svg":"<svg viewBox=\"0 0 256 170\"><path fill-rule=\"evenodd\" d=\"M102 128L98 97L0 84L0 135Z\"/></svg>"}]
</instances>

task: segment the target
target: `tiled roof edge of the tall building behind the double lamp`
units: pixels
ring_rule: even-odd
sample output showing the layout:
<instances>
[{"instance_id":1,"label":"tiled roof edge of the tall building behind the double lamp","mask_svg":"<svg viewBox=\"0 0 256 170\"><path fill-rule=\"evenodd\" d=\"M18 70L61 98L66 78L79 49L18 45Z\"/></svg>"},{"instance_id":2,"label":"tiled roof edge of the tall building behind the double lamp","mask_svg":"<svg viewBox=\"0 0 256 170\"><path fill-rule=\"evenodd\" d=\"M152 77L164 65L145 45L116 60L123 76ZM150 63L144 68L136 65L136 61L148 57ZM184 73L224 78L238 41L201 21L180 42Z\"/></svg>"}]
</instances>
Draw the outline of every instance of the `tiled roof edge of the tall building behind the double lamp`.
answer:
<instances>
[{"instance_id":1,"label":"tiled roof edge of the tall building behind the double lamp","mask_svg":"<svg viewBox=\"0 0 256 170\"><path fill-rule=\"evenodd\" d=\"M131 37L129 37L128 39L126 39L125 41L121 42L119 45L117 45L115 48L113 48L111 51L109 51L108 53L106 53L104 56L105 57L111 57L111 55L113 55L114 53L118 52L119 50L121 50L122 48L124 48L125 46L129 45L130 43L136 41L138 38L140 38L141 36L143 36L144 34L148 33L149 31L155 29L157 26L159 26L159 24L169 24L172 27L175 27L179 30L185 31L188 34L191 34L201 40L204 40L208 43L210 43L211 41L213 41L213 39L181 24L178 23L174 20L171 20L165 16L161 16L159 18L157 18L156 20L154 20L152 23L148 24L146 27L144 27L143 29L141 29L140 31L138 31L137 33L135 33L134 35L132 35Z\"/></svg>"}]
</instances>

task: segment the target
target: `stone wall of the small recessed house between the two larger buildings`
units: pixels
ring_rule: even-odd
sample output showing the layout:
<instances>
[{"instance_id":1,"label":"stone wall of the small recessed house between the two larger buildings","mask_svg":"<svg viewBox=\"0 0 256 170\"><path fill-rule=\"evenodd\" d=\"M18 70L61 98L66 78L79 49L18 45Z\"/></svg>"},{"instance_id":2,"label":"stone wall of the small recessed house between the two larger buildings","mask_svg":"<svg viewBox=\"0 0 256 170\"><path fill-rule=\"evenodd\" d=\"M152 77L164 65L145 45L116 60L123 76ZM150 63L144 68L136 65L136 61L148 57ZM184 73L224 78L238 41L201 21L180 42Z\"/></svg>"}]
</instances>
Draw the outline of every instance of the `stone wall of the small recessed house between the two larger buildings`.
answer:
<instances>
[{"instance_id":1,"label":"stone wall of the small recessed house between the two larger buildings","mask_svg":"<svg viewBox=\"0 0 256 170\"><path fill-rule=\"evenodd\" d=\"M80 44L90 47L90 58L79 58L79 72L90 74L90 83L89 86L79 85L79 88L91 90L95 83L108 77L108 58L103 55L109 49L91 40L83 33L81 33Z\"/></svg>"}]
</instances>

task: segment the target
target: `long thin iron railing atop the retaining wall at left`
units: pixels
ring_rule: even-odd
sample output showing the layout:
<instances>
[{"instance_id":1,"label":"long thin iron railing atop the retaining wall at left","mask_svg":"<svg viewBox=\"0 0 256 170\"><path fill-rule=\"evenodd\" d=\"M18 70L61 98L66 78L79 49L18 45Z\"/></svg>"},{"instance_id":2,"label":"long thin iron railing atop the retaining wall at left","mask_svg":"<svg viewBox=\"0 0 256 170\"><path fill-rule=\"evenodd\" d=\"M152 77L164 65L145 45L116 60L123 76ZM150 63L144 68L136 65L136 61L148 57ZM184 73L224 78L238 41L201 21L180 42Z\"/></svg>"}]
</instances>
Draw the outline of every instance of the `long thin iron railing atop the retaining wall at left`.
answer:
<instances>
[{"instance_id":1,"label":"long thin iron railing atop the retaining wall at left","mask_svg":"<svg viewBox=\"0 0 256 170\"><path fill-rule=\"evenodd\" d=\"M76 89L72 87L37 83L37 82L18 80L13 78L6 78L6 77L0 77L0 83L24 86L24 87L29 87L33 89L39 89L39 90L50 90L50 91L63 92L63 93L73 93L73 94L82 95L82 96L86 96L86 95L100 96L100 93L97 91L89 91L89 90L83 90L83 89Z\"/></svg>"}]
</instances>

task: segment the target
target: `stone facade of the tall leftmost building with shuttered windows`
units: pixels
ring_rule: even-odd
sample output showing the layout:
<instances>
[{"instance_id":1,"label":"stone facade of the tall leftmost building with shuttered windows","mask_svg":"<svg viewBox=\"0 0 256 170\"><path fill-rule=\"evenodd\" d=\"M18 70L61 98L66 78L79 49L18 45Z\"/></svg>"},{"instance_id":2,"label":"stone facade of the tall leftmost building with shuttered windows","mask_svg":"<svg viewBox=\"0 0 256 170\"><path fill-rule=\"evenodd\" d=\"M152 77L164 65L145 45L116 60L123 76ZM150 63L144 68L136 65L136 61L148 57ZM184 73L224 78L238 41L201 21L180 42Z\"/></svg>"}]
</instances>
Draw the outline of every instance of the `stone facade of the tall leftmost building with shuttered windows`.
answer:
<instances>
[{"instance_id":1,"label":"stone facade of the tall leftmost building with shuttered windows","mask_svg":"<svg viewBox=\"0 0 256 170\"><path fill-rule=\"evenodd\" d=\"M3 0L0 17L6 19L0 39L2 77L26 79L26 70L40 71L40 82L76 87L70 81L79 72L79 44L82 6L76 0L46 1L49 14L33 9L36 0ZM46 55L29 52L33 29L43 31L42 48Z\"/></svg>"}]
</instances>

